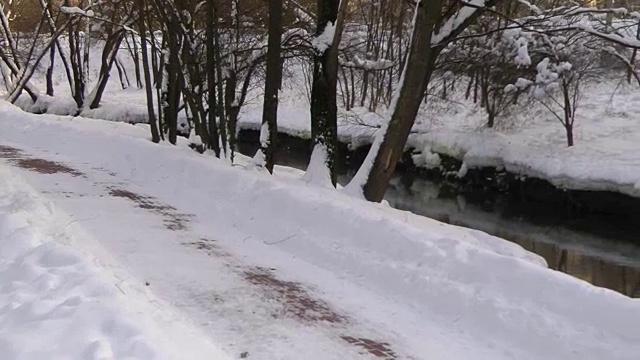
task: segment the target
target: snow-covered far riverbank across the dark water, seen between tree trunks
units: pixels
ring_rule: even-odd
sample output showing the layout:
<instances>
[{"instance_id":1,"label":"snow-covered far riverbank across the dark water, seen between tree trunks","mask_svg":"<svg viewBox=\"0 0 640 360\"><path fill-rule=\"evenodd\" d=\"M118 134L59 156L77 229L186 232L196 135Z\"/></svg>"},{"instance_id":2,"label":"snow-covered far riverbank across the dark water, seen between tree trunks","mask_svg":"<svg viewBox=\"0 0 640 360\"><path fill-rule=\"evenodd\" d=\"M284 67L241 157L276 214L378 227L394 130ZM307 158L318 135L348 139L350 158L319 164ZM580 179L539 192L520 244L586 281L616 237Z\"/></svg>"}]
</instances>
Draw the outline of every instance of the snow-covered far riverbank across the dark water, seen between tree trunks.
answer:
<instances>
[{"instance_id":1,"label":"snow-covered far riverbank across the dark water, seen between tree trunks","mask_svg":"<svg viewBox=\"0 0 640 360\"><path fill-rule=\"evenodd\" d=\"M615 82L593 85L577 110L575 146L566 146L564 128L547 110L532 104L506 115L496 128L485 127L483 110L464 99L432 98L423 109L408 147L415 165L439 167L440 155L465 169L494 168L516 176L550 182L559 189L611 191L640 197L640 89ZM307 108L293 101L281 105L283 133L308 138ZM258 129L259 109L249 108L240 125ZM362 109L342 112L342 142L358 147L372 141L383 114ZM460 169L458 169L460 170Z\"/></svg>"}]
</instances>

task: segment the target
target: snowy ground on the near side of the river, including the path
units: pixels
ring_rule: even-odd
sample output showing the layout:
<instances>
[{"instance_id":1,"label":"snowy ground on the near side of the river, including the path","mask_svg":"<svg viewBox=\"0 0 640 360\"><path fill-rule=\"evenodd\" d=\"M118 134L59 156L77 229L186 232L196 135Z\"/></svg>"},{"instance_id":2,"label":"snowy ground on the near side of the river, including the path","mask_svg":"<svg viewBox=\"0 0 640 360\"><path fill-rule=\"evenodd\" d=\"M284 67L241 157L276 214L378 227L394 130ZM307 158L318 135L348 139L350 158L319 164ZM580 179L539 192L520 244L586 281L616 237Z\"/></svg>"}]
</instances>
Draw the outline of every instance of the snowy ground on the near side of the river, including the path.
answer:
<instances>
[{"instance_id":1,"label":"snowy ground on the near side of the river, including the path","mask_svg":"<svg viewBox=\"0 0 640 360\"><path fill-rule=\"evenodd\" d=\"M155 145L143 125L36 116L0 102L0 145L10 188L3 211L12 194L28 192L49 205L27 202L36 210L12 221L57 226L31 236L3 225L0 241L15 249L1 248L0 277L24 280L1 283L0 301L17 295L0 303L0 316L24 308L45 323L1 319L2 359L28 358L10 351L53 346L46 337L54 335L61 352L103 339L139 358L127 347L132 338L175 359L216 358L210 343L231 357L268 360L640 354L639 300L548 270L538 256L478 231L314 188L293 171L272 177L184 143ZM83 235L56 235L67 231ZM41 251L65 256L19 255L42 243ZM60 258L69 265L56 267ZM6 265L16 261L24 265ZM62 287L40 288L39 272ZM63 281L68 272L86 286ZM52 334L42 313L70 314L56 321L74 332ZM105 326L105 318L133 325ZM31 336L15 346L16 332ZM125 358L115 352L103 357Z\"/></svg>"}]
</instances>

